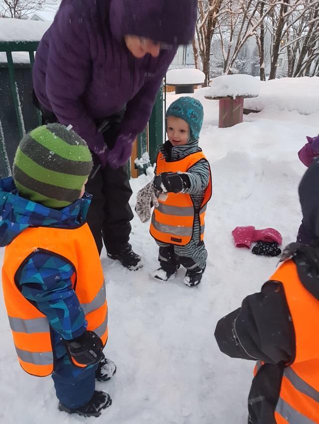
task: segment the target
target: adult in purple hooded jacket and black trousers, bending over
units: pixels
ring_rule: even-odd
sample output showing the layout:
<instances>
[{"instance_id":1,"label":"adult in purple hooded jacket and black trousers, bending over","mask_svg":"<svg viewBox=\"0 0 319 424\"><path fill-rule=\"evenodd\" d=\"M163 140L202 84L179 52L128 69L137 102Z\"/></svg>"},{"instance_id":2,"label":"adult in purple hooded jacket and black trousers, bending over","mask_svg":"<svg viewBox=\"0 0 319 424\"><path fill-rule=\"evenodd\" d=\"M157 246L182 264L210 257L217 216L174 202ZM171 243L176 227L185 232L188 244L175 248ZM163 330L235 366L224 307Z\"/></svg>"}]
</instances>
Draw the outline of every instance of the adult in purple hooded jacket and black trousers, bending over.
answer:
<instances>
[{"instance_id":1,"label":"adult in purple hooded jacket and black trousers, bending over","mask_svg":"<svg viewBox=\"0 0 319 424\"><path fill-rule=\"evenodd\" d=\"M72 124L95 161L87 216L99 252L130 269L133 212L126 163L179 44L194 35L197 0L62 0L36 51L34 103Z\"/></svg>"}]
</instances>

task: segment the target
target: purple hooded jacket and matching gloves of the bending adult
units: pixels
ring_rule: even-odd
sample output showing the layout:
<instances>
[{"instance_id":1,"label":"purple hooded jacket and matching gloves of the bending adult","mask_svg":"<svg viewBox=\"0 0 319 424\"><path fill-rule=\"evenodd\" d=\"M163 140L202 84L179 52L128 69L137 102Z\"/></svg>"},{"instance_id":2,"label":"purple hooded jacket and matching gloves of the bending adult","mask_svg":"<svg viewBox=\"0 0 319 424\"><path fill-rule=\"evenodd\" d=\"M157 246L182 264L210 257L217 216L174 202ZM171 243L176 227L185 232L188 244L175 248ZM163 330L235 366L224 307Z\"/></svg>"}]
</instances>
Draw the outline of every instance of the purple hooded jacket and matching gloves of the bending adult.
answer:
<instances>
[{"instance_id":1,"label":"purple hooded jacket and matching gloves of the bending adult","mask_svg":"<svg viewBox=\"0 0 319 424\"><path fill-rule=\"evenodd\" d=\"M95 120L127 104L118 140L132 142L146 127L177 45L193 37L196 10L197 0L62 0L36 52L39 102L61 123L72 124L100 160L105 143ZM136 59L126 48L126 34L172 48L158 58Z\"/></svg>"}]
</instances>

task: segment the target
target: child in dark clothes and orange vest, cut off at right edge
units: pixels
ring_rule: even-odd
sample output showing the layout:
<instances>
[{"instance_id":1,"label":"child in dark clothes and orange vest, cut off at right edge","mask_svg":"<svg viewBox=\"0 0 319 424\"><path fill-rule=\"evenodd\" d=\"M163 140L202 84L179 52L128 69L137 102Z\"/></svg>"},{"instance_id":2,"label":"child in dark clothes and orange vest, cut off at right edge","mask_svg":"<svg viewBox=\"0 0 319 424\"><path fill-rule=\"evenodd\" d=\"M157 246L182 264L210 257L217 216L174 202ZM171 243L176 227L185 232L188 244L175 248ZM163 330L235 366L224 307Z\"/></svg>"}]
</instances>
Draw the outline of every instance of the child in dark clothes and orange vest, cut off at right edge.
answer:
<instances>
[{"instance_id":1,"label":"child in dark clothes and orange vest, cut off at right edge","mask_svg":"<svg viewBox=\"0 0 319 424\"><path fill-rule=\"evenodd\" d=\"M261 292L247 296L216 326L223 353L257 361L249 424L319 423L318 182L315 159L299 185L309 243L289 244Z\"/></svg>"}]
</instances>

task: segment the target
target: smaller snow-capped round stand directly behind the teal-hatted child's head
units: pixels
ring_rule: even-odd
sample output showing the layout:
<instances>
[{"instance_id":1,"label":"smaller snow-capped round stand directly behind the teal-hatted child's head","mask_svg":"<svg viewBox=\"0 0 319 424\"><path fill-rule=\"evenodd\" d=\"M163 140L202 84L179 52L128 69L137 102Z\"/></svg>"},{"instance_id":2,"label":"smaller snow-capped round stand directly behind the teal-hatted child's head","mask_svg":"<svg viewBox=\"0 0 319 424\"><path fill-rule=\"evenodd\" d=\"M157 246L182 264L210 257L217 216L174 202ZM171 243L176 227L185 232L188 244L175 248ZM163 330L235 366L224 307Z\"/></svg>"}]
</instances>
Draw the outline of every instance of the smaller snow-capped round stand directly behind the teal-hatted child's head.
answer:
<instances>
[{"instance_id":1,"label":"smaller snow-capped round stand directly behind the teal-hatted child's head","mask_svg":"<svg viewBox=\"0 0 319 424\"><path fill-rule=\"evenodd\" d=\"M199 69L171 69L166 74L166 86L175 87L175 93L194 93L194 86L201 86L205 74Z\"/></svg>"}]
</instances>

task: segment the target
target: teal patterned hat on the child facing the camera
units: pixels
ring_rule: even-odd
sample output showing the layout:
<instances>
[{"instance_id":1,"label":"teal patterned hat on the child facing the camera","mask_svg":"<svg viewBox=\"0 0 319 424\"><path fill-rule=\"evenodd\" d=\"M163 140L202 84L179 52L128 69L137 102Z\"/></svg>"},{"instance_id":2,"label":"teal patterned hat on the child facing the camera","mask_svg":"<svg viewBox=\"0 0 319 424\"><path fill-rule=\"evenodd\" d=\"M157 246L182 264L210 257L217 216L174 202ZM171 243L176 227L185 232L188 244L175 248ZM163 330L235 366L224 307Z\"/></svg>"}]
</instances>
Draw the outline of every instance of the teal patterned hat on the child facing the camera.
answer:
<instances>
[{"instance_id":1,"label":"teal patterned hat on the child facing the camera","mask_svg":"<svg viewBox=\"0 0 319 424\"><path fill-rule=\"evenodd\" d=\"M175 116L186 121L190 128L190 139L198 140L204 119L203 105L199 100L180 97L168 107L165 118L167 116Z\"/></svg>"}]
</instances>

